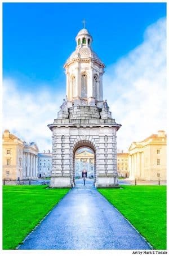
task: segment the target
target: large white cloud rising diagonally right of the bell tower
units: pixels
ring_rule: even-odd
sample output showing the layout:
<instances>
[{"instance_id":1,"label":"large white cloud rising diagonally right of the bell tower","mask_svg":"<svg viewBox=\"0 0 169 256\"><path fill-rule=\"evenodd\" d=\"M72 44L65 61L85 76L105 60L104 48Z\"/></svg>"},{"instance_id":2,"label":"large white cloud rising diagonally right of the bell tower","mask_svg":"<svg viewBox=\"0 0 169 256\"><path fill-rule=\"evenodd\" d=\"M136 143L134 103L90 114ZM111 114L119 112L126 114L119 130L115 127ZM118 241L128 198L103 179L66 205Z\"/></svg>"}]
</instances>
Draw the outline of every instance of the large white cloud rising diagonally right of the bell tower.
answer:
<instances>
[{"instance_id":1,"label":"large white cloud rising diagonally right of the bell tower","mask_svg":"<svg viewBox=\"0 0 169 256\"><path fill-rule=\"evenodd\" d=\"M143 44L108 67L104 97L112 117L122 124L117 133L119 150L167 129L166 19L150 25Z\"/></svg>"}]
</instances>

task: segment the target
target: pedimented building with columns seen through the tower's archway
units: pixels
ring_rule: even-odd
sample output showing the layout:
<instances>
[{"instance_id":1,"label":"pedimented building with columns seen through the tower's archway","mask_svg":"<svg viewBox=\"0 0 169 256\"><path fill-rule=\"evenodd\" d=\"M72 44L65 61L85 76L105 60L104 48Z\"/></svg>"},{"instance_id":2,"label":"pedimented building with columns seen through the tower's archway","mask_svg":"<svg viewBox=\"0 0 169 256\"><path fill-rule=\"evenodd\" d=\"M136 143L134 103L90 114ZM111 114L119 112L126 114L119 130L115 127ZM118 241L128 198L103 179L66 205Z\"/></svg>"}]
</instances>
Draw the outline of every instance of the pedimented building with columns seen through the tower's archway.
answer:
<instances>
[{"instance_id":1,"label":"pedimented building with columns seen through the tower's archway","mask_svg":"<svg viewBox=\"0 0 169 256\"><path fill-rule=\"evenodd\" d=\"M83 170L87 178L94 178L94 153L87 150L75 153L75 178L82 178Z\"/></svg>"}]
</instances>

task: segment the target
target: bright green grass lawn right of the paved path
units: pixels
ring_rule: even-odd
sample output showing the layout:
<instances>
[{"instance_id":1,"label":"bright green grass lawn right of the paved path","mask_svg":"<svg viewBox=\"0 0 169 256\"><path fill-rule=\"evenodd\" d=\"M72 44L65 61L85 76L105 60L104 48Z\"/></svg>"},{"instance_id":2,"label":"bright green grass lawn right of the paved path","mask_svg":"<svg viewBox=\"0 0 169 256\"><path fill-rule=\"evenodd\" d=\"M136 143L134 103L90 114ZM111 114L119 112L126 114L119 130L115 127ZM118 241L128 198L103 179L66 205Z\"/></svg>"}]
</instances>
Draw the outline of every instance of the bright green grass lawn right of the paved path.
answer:
<instances>
[{"instance_id":1,"label":"bright green grass lawn right of the paved path","mask_svg":"<svg viewBox=\"0 0 169 256\"><path fill-rule=\"evenodd\" d=\"M166 186L121 186L98 189L139 231L154 249L166 245Z\"/></svg>"}]
</instances>

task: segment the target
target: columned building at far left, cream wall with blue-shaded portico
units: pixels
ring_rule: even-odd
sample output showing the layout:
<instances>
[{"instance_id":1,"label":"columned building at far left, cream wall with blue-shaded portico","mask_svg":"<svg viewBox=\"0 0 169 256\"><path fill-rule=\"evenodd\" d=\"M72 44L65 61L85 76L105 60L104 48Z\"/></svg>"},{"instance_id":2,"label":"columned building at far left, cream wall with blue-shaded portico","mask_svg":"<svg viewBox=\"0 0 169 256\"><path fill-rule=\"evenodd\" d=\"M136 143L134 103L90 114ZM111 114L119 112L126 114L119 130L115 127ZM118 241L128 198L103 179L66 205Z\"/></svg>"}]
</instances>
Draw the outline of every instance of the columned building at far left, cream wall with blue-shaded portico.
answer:
<instances>
[{"instance_id":1,"label":"columned building at far left, cream wall with blue-shaded portico","mask_svg":"<svg viewBox=\"0 0 169 256\"><path fill-rule=\"evenodd\" d=\"M23 140L5 130L2 136L2 177L8 181L37 178L38 147L32 142Z\"/></svg>"}]
</instances>

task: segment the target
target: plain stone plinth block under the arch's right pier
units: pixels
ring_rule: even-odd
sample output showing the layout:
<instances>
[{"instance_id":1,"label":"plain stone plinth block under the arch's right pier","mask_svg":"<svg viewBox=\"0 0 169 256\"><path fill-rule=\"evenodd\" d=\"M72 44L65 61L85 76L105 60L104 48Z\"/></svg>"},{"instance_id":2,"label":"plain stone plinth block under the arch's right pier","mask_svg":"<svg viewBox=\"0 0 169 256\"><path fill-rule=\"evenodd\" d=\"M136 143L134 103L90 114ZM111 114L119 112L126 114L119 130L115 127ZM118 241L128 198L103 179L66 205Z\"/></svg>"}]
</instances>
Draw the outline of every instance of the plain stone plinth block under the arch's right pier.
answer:
<instances>
[{"instance_id":1,"label":"plain stone plinth block under the arch's right pier","mask_svg":"<svg viewBox=\"0 0 169 256\"><path fill-rule=\"evenodd\" d=\"M99 176L97 177L97 181L95 187L119 187L118 185L118 177L112 176Z\"/></svg>"}]
</instances>

